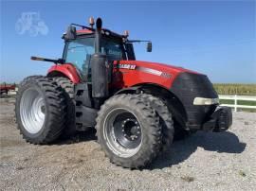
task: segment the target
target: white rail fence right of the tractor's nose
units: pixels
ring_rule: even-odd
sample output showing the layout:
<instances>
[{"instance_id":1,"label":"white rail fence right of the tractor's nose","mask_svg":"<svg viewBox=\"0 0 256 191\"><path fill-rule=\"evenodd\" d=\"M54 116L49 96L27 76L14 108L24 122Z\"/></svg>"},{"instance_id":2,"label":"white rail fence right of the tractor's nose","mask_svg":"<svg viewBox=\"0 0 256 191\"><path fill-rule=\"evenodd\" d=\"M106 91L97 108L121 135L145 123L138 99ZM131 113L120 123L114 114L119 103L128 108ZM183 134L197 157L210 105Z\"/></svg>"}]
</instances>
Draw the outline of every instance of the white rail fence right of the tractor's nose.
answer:
<instances>
[{"instance_id":1,"label":"white rail fence right of the tractor's nose","mask_svg":"<svg viewBox=\"0 0 256 191\"><path fill-rule=\"evenodd\" d=\"M219 95L219 99L228 99L234 100L234 104L221 104L222 106L229 106L234 108L234 111L237 112L237 108L248 108L248 109L256 109L256 106L249 106L249 105L238 105L238 100L245 100L245 101L256 101L256 96L229 96L229 95Z\"/></svg>"}]
</instances>

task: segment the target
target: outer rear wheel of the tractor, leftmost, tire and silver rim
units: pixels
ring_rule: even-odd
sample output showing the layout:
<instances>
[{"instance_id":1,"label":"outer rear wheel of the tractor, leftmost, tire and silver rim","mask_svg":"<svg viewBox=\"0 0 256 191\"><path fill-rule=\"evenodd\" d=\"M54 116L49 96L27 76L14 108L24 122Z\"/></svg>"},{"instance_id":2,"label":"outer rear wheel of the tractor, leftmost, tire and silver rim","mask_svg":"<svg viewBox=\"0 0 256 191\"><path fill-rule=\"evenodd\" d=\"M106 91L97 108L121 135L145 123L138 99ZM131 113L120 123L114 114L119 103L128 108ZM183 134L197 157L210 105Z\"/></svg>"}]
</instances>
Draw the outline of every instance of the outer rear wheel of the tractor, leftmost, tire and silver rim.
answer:
<instances>
[{"instance_id":1,"label":"outer rear wheel of the tractor, leftmost, tire and silver rim","mask_svg":"<svg viewBox=\"0 0 256 191\"><path fill-rule=\"evenodd\" d=\"M50 78L25 78L16 96L15 115L18 129L27 142L52 143L64 128L66 113L62 89Z\"/></svg>"}]
</instances>

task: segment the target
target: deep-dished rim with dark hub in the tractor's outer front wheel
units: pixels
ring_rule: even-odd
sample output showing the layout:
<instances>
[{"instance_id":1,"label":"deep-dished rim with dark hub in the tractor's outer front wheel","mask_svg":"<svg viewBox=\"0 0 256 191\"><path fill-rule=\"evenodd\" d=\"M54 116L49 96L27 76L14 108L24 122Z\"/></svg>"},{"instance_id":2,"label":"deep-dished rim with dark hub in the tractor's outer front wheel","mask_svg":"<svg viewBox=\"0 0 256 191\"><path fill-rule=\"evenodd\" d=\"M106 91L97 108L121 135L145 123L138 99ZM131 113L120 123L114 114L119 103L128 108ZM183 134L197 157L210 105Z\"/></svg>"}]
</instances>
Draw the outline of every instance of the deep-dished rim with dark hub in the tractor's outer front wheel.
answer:
<instances>
[{"instance_id":1,"label":"deep-dished rim with dark hub in the tractor's outer front wheel","mask_svg":"<svg viewBox=\"0 0 256 191\"><path fill-rule=\"evenodd\" d=\"M131 157L142 143L142 129L134 113L118 108L107 114L103 136L108 148L120 157Z\"/></svg>"}]
</instances>

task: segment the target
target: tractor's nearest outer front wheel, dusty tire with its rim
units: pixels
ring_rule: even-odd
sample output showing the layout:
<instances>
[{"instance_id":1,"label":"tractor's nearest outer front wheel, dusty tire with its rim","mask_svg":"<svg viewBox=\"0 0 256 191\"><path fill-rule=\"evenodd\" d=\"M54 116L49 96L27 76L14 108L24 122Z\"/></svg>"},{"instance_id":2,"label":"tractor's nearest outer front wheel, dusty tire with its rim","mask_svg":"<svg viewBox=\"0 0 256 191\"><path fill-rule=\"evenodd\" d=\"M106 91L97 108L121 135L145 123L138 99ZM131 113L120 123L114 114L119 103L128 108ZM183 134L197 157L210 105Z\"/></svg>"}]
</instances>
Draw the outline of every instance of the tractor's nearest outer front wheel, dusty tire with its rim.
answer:
<instances>
[{"instance_id":1,"label":"tractor's nearest outer front wheel, dusty tire with its rim","mask_svg":"<svg viewBox=\"0 0 256 191\"><path fill-rule=\"evenodd\" d=\"M159 117L149 104L137 95L117 95L98 114L98 140L111 163L141 168L152 162L162 135Z\"/></svg>"}]
</instances>

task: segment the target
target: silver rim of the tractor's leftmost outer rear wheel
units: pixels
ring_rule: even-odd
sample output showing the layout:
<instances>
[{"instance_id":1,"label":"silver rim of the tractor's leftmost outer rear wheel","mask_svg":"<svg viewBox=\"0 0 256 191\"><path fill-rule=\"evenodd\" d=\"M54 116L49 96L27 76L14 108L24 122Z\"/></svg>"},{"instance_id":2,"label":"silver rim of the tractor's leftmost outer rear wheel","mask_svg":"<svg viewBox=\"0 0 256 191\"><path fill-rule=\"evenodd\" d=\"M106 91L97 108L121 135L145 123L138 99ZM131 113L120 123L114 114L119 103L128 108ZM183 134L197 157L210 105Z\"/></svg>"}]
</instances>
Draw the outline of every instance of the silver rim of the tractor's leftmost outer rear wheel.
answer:
<instances>
[{"instance_id":1,"label":"silver rim of the tractor's leftmost outer rear wheel","mask_svg":"<svg viewBox=\"0 0 256 191\"><path fill-rule=\"evenodd\" d=\"M39 132L45 123L46 103L36 89L27 89L21 98L20 116L23 127L29 133Z\"/></svg>"}]
</instances>

